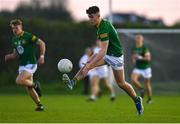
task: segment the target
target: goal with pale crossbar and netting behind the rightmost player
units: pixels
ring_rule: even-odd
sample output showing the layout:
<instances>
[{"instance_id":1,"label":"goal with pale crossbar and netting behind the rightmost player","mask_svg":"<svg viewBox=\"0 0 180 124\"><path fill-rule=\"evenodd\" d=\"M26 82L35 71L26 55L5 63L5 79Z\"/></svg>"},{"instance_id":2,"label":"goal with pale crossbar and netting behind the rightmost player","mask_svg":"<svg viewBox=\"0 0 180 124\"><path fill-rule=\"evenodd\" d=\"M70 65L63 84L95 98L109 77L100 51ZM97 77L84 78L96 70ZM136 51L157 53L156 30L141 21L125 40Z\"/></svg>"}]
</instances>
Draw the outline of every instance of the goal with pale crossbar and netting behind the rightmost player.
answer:
<instances>
[{"instance_id":1,"label":"goal with pale crossbar and netting behind the rightmost player","mask_svg":"<svg viewBox=\"0 0 180 124\"><path fill-rule=\"evenodd\" d=\"M125 54L127 81L130 82L133 69L132 47L139 33L144 36L144 42L152 54L153 82L177 84L180 81L180 29L117 29L117 32ZM112 76L110 80L113 81Z\"/></svg>"}]
</instances>

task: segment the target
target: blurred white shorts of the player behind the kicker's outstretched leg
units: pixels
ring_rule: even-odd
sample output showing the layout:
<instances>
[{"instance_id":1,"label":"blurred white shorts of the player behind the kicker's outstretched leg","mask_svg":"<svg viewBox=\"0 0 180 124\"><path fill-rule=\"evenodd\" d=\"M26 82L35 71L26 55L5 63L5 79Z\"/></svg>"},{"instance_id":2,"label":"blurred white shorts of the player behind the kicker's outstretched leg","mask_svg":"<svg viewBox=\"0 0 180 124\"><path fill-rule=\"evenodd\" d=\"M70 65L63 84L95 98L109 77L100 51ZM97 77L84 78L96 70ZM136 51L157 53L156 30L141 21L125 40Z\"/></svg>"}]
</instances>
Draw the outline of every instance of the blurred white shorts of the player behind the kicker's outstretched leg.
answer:
<instances>
[{"instance_id":1,"label":"blurred white shorts of the player behind the kicker's outstretched leg","mask_svg":"<svg viewBox=\"0 0 180 124\"><path fill-rule=\"evenodd\" d=\"M92 79L94 76L97 76L100 79L107 78L108 77L108 66L103 65L100 67L95 67L88 72L88 75L89 75L90 79Z\"/></svg>"}]
</instances>

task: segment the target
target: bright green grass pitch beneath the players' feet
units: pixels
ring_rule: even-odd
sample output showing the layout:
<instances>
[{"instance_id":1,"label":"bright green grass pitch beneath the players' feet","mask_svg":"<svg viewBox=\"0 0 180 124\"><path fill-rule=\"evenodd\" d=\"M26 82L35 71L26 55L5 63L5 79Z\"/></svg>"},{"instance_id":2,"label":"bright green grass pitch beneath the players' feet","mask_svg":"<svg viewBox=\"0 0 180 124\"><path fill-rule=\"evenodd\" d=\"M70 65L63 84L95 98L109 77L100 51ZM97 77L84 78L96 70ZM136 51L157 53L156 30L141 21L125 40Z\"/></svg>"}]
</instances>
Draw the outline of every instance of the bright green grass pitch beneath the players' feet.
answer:
<instances>
[{"instance_id":1,"label":"bright green grass pitch beneath the players' feet","mask_svg":"<svg viewBox=\"0 0 180 124\"><path fill-rule=\"evenodd\" d=\"M180 96L154 96L138 117L134 103L126 95L111 102L107 95L87 102L81 95L44 95L44 112L35 112L30 97L0 94L0 122L180 122Z\"/></svg>"}]
</instances>

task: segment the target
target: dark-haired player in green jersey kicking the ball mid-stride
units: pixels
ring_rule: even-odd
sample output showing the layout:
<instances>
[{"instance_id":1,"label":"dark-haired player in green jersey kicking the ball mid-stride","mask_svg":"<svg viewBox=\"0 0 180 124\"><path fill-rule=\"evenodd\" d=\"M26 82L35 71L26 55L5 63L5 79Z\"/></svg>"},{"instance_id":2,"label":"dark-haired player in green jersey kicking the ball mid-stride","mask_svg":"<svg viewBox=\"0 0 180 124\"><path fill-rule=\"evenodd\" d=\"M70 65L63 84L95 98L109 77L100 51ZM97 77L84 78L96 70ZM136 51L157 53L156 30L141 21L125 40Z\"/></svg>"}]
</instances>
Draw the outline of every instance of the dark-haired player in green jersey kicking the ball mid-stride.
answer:
<instances>
[{"instance_id":1,"label":"dark-haired player in green jersey kicking the ball mid-stride","mask_svg":"<svg viewBox=\"0 0 180 124\"><path fill-rule=\"evenodd\" d=\"M96 66L109 64L114 73L116 82L135 102L138 115L142 115L144 108L142 98L136 95L133 87L125 81L123 50L118 34L113 25L100 17L97 6L89 7L86 10L90 23L97 28L97 37L100 40L99 53L92 55L86 65L79 70L75 77L70 80L67 74L63 75L63 80L72 89L77 81L83 79L88 71Z\"/></svg>"}]
</instances>

